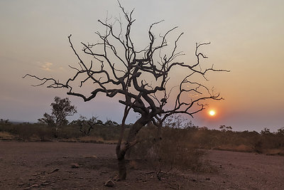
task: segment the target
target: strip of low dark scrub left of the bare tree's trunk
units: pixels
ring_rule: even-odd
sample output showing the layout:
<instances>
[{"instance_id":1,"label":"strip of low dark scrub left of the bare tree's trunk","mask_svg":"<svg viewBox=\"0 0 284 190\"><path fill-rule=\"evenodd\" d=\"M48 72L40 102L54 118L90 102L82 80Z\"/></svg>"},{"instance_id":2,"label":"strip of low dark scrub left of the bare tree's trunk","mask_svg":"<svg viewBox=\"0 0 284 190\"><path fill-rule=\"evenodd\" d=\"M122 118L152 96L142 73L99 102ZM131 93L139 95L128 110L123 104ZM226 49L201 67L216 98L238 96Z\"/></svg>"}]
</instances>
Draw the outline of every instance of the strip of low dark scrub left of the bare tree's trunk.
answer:
<instances>
[{"instance_id":1,"label":"strip of low dark scrub left of the bare tree's trunk","mask_svg":"<svg viewBox=\"0 0 284 190\"><path fill-rule=\"evenodd\" d=\"M85 118L85 117L84 117ZM92 120L92 118L90 119ZM100 120L99 120L100 121ZM13 124L10 122L0 123L1 134L12 135L15 140L19 141L51 141L51 140L61 140L61 141L71 141L71 142L114 142L119 139L119 127L115 125L105 125L95 123L92 125L92 130L89 131L89 138L85 138L86 134L82 130L86 130L80 125L78 120L70 122L69 125L63 125L61 130L56 132L55 128L43 123L21 123ZM89 129L87 129L89 130ZM1 136L1 139L5 139ZM11 138L9 138L11 139Z\"/></svg>"}]
</instances>

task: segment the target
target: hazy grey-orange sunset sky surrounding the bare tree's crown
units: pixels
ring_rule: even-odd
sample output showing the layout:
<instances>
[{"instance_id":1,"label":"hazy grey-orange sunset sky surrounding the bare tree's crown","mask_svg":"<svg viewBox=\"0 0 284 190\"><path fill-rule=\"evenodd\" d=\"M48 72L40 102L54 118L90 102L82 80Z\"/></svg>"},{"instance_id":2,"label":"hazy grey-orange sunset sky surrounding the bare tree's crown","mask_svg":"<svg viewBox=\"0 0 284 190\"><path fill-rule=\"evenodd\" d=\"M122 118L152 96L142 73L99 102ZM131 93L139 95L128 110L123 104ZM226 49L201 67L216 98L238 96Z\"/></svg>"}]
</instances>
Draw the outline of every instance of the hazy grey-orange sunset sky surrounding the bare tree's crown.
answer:
<instances>
[{"instance_id":1,"label":"hazy grey-orange sunset sky surrounding the bare tree's crown","mask_svg":"<svg viewBox=\"0 0 284 190\"><path fill-rule=\"evenodd\" d=\"M209 102L216 117L209 117L206 110L192 119L196 125L256 131L284 127L284 1L121 0L121 4L129 11L135 8L132 34L137 46L144 46L151 23L165 20L155 28L157 35L174 26L179 28L173 37L185 32L179 49L186 55L180 60L195 63L195 43L211 42L202 49L209 56L206 63L231 70L209 75L209 86L225 100ZM67 79L74 72L68 65L77 63L67 36L72 33L80 50L81 41L96 42L94 31L104 31L98 19L119 14L115 0L0 1L0 118L35 122L50 112L53 97L67 97L66 90L33 88L31 84L38 81L22 76ZM90 102L70 100L81 115L121 122L117 100L104 96ZM129 122L135 119L131 115Z\"/></svg>"}]
</instances>

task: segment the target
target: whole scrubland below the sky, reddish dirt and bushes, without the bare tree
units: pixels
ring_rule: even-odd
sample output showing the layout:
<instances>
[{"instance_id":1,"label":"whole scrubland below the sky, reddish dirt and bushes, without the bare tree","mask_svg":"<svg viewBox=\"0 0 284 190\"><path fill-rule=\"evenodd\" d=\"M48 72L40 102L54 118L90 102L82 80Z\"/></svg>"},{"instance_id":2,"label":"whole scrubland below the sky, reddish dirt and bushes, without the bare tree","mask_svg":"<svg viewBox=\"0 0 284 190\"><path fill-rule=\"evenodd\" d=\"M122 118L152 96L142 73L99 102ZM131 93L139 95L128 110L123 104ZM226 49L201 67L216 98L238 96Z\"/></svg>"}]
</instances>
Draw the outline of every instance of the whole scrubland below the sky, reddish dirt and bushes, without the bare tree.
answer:
<instances>
[{"instance_id":1,"label":"whole scrubland below the sky, reddish dirt and bushes, without the bare tree","mask_svg":"<svg viewBox=\"0 0 284 190\"><path fill-rule=\"evenodd\" d=\"M119 125L0 124L4 189L107 189L117 174ZM85 126L86 127L86 126ZM126 134L129 131L126 127ZM81 130L81 131L80 131ZM117 189L282 189L284 130L234 132L193 125L147 125L127 154ZM84 142L84 143L82 143ZM221 151L222 150L222 151ZM272 156L275 155L275 156ZM23 172L25 175L22 175Z\"/></svg>"}]
</instances>

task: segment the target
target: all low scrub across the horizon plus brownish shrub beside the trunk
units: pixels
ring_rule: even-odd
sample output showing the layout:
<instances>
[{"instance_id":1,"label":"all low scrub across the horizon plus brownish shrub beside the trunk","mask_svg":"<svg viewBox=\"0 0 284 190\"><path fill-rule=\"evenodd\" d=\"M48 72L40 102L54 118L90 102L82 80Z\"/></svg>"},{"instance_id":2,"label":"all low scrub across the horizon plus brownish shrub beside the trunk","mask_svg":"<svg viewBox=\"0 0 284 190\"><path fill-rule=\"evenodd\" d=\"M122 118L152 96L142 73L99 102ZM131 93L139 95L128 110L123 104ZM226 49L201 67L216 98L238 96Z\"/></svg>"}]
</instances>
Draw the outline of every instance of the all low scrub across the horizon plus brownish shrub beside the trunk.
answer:
<instances>
[{"instance_id":1,"label":"all low scrub across the horizon plus brownish shrub beside the trunk","mask_svg":"<svg viewBox=\"0 0 284 190\"><path fill-rule=\"evenodd\" d=\"M92 123L87 124L87 122ZM124 141L130 127L126 126ZM207 127L197 127L192 122L183 122L180 117L171 117L160 129L149 123L138 133L139 143L131 149L129 166L138 168L141 162L146 163L146 166L161 180L173 171L198 173L217 171L217 167L204 159L204 155L207 154L206 149L284 156L283 128L278 132L270 132L265 128L261 133L234 132L231 127L224 125L219 129L208 130ZM13 124L8 120L1 120L0 140L25 142L56 140L115 144L120 137L120 128L116 122L107 120L103 123L97 120L97 117L89 120L80 117L80 120L70 122L69 125L62 126L57 137L54 136L54 130L55 128L40 123Z\"/></svg>"}]
</instances>

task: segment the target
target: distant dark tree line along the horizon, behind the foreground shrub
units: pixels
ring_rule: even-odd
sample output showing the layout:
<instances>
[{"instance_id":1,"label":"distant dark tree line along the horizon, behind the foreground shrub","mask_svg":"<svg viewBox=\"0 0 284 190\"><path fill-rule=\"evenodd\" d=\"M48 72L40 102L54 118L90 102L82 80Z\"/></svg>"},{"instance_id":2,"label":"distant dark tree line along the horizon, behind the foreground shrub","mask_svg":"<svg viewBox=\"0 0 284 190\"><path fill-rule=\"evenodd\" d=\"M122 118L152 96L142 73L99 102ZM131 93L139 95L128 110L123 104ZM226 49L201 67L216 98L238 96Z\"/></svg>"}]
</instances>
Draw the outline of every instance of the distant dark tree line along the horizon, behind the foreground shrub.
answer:
<instances>
[{"instance_id":1,"label":"distant dark tree line along the horizon, behind the foreground shrub","mask_svg":"<svg viewBox=\"0 0 284 190\"><path fill-rule=\"evenodd\" d=\"M257 152L265 154L284 155L284 127L277 132L271 132L265 127L261 132L234 132L231 127L222 125L219 130L209 130L207 127L198 127L192 122L182 121L180 117L173 117L172 120L165 122L161 128L161 134L166 135L168 139L172 137L184 138L187 144L200 149L224 149L240 152ZM180 123L180 124L178 124ZM137 144L135 149L139 149L141 144L146 142L157 142L155 139L156 127L151 127L149 123L145 130L138 133L139 137L146 137L146 140ZM129 132L130 125L126 125L126 137ZM46 123L21 123L13 124L9 120L0 120L0 140L3 132L11 134L13 138L20 141L46 141L53 139L64 139L66 141L78 142L112 142L115 143L119 139L119 127L114 121L107 120L102 122L97 117L81 116L80 119L63 125L60 130L56 131L55 127ZM2 133L1 133L2 132ZM162 135L162 139L165 138ZM148 137L149 136L149 137ZM88 137L86 139L85 137ZM143 138L142 138L143 139ZM173 144L175 144L173 142ZM151 146L145 146L151 149Z\"/></svg>"}]
</instances>

